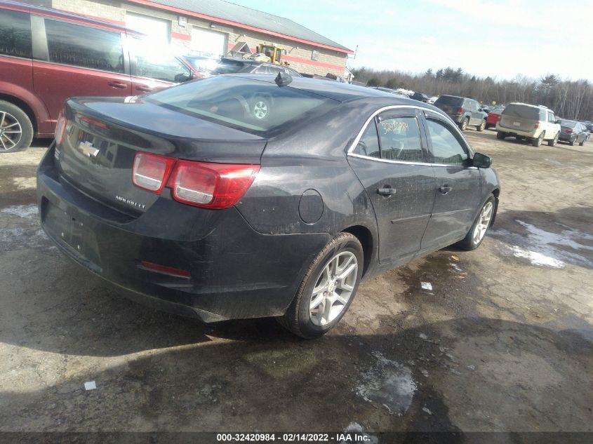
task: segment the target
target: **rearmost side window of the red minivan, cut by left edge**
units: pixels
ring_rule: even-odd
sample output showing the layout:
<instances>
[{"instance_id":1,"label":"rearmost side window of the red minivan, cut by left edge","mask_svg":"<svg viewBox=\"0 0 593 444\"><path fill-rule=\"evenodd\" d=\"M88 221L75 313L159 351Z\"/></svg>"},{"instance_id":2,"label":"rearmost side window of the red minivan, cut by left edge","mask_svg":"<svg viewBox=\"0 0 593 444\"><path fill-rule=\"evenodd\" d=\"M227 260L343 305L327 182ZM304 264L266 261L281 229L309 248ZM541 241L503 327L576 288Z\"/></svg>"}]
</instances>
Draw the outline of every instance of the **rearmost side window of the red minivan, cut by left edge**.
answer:
<instances>
[{"instance_id":1,"label":"rearmost side window of the red minivan, cut by left edge","mask_svg":"<svg viewBox=\"0 0 593 444\"><path fill-rule=\"evenodd\" d=\"M31 58L31 46L29 14L0 9L0 54Z\"/></svg>"}]
</instances>

